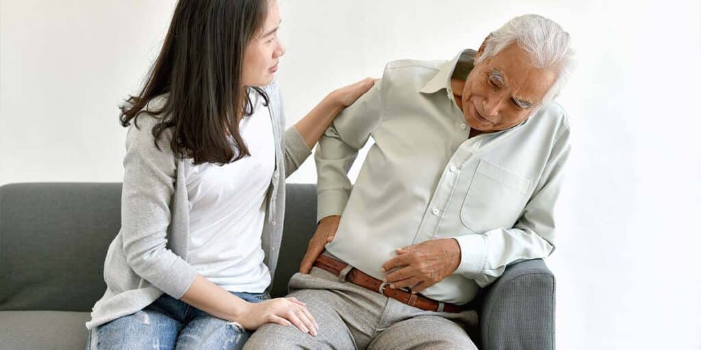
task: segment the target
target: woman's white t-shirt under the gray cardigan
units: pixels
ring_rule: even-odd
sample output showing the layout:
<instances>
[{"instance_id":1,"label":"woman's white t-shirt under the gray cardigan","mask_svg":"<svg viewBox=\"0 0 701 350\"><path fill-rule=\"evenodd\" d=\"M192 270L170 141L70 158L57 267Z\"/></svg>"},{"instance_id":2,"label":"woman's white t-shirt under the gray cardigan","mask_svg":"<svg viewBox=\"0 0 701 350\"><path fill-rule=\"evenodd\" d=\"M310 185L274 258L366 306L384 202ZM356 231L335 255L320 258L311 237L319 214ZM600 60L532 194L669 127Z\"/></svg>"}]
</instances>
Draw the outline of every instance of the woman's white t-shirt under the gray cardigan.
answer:
<instances>
[{"instance_id":1,"label":"woman's white t-shirt under the gray cardigan","mask_svg":"<svg viewBox=\"0 0 701 350\"><path fill-rule=\"evenodd\" d=\"M196 165L186 173L192 204L187 260L199 274L226 290L262 293L271 282L261 233L275 170L275 140L263 99L254 91L251 99L254 113L240 122L240 134L251 155L223 166ZM233 137L230 141L232 147L236 145Z\"/></svg>"}]
</instances>

